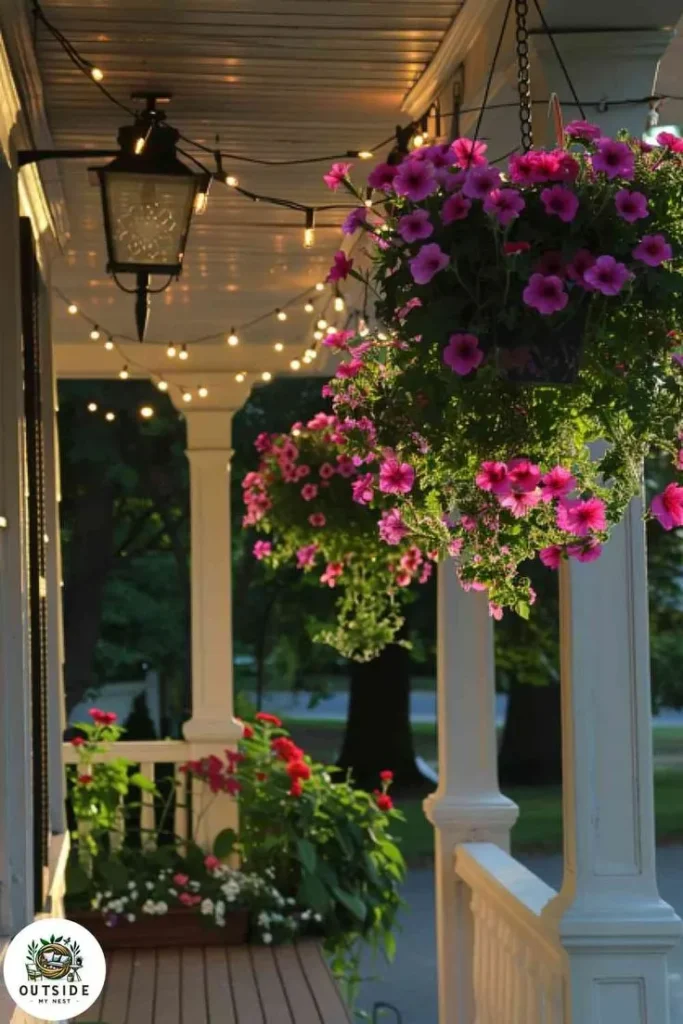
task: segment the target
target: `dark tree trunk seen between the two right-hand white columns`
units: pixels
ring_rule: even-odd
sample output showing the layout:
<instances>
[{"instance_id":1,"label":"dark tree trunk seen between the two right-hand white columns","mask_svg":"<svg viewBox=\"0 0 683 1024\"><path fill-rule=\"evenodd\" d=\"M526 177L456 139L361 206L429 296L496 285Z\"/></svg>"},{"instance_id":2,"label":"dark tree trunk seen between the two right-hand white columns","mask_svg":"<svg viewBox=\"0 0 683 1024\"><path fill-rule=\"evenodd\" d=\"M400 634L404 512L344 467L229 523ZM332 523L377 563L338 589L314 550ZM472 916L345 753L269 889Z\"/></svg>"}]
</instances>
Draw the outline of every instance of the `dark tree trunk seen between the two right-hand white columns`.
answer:
<instances>
[{"instance_id":1,"label":"dark tree trunk seen between the two right-hand white columns","mask_svg":"<svg viewBox=\"0 0 683 1024\"><path fill-rule=\"evenodd\" d=\"M558 785L562 781L562 727L558 683L531 686L512 680L499 757L501 785Z\"/></svg>"}]
</instances>

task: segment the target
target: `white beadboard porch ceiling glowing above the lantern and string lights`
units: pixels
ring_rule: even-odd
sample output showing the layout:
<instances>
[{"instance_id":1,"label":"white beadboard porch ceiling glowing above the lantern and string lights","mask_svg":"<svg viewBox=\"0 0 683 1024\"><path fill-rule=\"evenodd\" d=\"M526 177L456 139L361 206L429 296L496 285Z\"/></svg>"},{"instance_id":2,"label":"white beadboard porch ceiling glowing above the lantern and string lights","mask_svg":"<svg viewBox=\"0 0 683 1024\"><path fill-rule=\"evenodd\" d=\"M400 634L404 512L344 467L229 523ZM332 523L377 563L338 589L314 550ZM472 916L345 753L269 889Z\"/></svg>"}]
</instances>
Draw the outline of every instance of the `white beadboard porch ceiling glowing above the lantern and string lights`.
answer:
<instances>
[{"instance_id":1,"label":"white beadboard porch ceiling glowing above the lantern and string lights","mask_svg":"<svg viewBox=\"0 0 683 1024\"><path fill-rule=\"evenodd\" d=\"M170 91L169 121L183 134L213 146L218 133L224 151L272 160L371 148L405 123L402 97L461 6L458 0L43 0L49 19L103 70L122 101L129 103L134 90ZM56 145L116 145L125 114L40 26L37 51ZM356 164L364 180L370 165ZM86 167L62 162L59 168L72 233L54 283L106 329L132 334L133 300L104 271L99 195ZM257 193L334 202L322 181L326 164L226 161L225 170ZM312 288L339 246L342 217L318 215L315 246L304 250L302 215L214 183L206 214L194 219L180 281L153 299L151 341L228 332ZM327 294L318 308L326 301ZM286 343L284 353L273 354L273 370L285 369L310 336L315 316L302 306L286 324L272 318L245 332L246 344ZM88 341L85 325L59 302L54 329L57 343ZM236 366L241 352L233 350Z\"/></svg>"}]
</instances>

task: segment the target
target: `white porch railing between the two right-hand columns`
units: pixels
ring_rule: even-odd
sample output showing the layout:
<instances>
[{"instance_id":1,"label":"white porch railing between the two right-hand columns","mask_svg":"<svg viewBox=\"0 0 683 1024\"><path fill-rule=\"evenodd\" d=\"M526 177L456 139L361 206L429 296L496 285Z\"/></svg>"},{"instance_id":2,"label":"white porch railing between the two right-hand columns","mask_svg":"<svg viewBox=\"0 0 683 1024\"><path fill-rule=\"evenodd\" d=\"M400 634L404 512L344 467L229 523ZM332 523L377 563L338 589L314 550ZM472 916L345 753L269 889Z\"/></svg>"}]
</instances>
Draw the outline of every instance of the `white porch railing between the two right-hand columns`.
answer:
<instances>
[{"instance_id":1,"label":"white porch railing between the two right-hand columns","mask_svg":"<svg viewBox=\"0 0 683 1024\"><path fill-rule=\"evenodd\" d=\"M476 1024L566 1024L566 954L542 911L555 891L493 843L456 849L471 891Z\"/></svg>"}]
</instances>

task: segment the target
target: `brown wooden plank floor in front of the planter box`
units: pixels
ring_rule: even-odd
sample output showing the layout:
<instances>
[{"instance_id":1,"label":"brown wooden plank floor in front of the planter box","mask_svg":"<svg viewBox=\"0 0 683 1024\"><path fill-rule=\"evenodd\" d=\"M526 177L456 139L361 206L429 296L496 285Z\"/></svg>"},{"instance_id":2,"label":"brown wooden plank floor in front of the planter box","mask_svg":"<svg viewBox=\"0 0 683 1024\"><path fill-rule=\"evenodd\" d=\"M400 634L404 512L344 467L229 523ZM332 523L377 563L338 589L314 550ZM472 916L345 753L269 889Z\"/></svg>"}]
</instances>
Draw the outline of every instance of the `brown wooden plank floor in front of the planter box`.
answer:
<instances>
[{"instance_id":1,"label":"brown wooden plank floor in front of the planter box","mask_svg":"<svg viewBox=\"0 0 683 1024\"><path fill-rule=\"evenodd\" d=\"M98 1024L349 1024L314 942L110 953Z\"/></svg>"}]
</instances>

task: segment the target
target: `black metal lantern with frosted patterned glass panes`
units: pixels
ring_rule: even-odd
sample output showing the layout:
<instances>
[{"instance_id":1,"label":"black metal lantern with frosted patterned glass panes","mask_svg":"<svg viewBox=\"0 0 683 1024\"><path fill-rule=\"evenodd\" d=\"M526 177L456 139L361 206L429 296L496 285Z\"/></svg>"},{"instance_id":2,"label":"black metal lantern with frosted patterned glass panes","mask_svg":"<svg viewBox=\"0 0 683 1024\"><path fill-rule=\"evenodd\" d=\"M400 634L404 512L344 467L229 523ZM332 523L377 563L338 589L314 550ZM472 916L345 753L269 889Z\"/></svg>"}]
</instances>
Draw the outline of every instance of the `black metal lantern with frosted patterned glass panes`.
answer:
<instances>
[{"instance_id":1,"label":"black metal lantern with frosted patterned glass panes","mask_svg":"<svg viewBox=\"0 0 683 1024\"><path fill-rule=\"evenodd\" d=\"M106 269L124 291L136 295L135 322L140 341L150 313L150 295L168 288L182 270L189 222L205 176L178 160L178 132L164 123L159 97L133 125L119 129L119 155L93 168L102 197ZM124 288L120 273L134 273L136 287ZM152 274L168 274L160 289L150 289Z\"/></svg>"}]
</instances>

